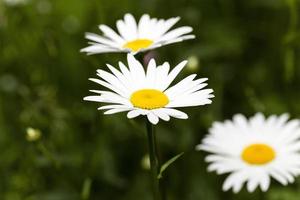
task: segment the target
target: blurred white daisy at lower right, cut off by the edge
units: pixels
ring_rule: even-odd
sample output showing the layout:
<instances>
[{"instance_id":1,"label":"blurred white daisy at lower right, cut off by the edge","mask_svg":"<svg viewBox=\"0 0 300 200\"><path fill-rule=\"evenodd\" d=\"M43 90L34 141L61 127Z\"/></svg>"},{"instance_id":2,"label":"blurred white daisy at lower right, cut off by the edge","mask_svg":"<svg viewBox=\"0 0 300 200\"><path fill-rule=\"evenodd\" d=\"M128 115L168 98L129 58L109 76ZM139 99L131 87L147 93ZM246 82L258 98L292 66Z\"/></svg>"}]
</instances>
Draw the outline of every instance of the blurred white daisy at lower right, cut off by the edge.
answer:
<instances>
[{"instance_id":1,"label":"blurred white daisy at lower right, cut off by the edge","mask_svg":"<svg viewBox=\"0 0 300 200\"><path fill-rule=\"evenodd\" d=\"M213 123L196 149L211 153L205 158L209 171L230 173L225 191L239 192L244 183L249 192L258 186L267 191L271 177L287 185L300 173L300 121L288 118L257 113L248 120L237 114L232 121Z\"/></svg>"}]
</instances>

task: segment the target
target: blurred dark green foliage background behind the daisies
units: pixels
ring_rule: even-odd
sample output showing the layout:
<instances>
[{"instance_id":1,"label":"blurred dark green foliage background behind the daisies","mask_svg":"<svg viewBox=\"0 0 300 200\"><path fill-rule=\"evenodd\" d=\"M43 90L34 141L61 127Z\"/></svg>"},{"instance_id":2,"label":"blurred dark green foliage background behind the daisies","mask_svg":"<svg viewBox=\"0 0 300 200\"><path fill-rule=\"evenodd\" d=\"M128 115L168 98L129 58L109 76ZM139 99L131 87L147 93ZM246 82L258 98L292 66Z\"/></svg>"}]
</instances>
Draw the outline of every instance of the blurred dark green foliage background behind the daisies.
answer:
<instances>
[{"instance_id":1,"label":"blurred dark green foliage background behind the daisies","mask_svg":"<svg viewBox=\"0 0 300 200\"><path fill-rule=\"evenodd\" d=\"M262 195L222 192L224 176L207 173L195 152L215 120L255 112L300 117L298 0L0 0L0 199L151 200L143 120L104 116L82 98L105 63L124 54L86 56L84 33L115 27L126 12L181 16L197 38L155 51L157 62L189 65L182 77L208 77L213 104L183 109L189 120L157 126L168 168L169 200L296 200L300 179L272 182ZM182 78L181 77L181 78ZM32 127L37 130L28 129ZM26 130L40 132L37 141ZM236 141L238 142L238 141Z\"/></svg>"}]
</instances>

